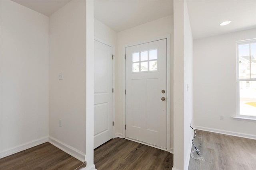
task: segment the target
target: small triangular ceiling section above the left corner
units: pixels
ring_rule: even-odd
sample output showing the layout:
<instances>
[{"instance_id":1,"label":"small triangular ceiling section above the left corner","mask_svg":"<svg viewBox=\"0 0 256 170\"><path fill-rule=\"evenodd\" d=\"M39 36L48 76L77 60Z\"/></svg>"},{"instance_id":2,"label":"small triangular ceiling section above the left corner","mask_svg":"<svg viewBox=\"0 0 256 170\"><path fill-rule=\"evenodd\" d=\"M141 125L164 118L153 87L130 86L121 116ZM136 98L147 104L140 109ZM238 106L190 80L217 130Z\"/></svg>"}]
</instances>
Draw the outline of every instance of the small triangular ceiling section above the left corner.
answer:
<instances>
[{"instance_id":1,"label":"small triangular ceiling section above the left corner","mask_svg":"<svg viewBox=\"0 0 256 170\"><path fill-rule=\"evenodd\" d=\"M50 16L62 6L66 5L71 0L12 0L26 6L34 11L37 11L46 16Z\"/></svg>"}]
</instances>

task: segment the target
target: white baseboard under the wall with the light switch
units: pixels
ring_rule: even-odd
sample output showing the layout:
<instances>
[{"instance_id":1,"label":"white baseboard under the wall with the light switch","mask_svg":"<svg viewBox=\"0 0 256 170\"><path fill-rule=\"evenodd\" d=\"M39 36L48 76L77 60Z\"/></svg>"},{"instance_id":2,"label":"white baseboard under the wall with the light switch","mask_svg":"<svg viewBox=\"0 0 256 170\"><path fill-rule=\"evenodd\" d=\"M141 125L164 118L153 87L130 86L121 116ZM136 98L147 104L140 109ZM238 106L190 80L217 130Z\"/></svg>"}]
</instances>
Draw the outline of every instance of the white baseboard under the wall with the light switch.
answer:
<instances>
[{"instance_id":1,"label":"white baseboard under the wall with the light switch","mask_svg":"<svg viewBox=\"0 0 256 170\"><path fill-rule=\"evenodd\" d=\"M80 152L79 150L70 147L66 143L62 143L61 141L55 139L54 137L49 137L48 142L57 147L58 149L63 150L67 154L70 154L74 158L77 158L78 160L85 162L85 154L83 152Z\"/></svg>"}]
</instances>

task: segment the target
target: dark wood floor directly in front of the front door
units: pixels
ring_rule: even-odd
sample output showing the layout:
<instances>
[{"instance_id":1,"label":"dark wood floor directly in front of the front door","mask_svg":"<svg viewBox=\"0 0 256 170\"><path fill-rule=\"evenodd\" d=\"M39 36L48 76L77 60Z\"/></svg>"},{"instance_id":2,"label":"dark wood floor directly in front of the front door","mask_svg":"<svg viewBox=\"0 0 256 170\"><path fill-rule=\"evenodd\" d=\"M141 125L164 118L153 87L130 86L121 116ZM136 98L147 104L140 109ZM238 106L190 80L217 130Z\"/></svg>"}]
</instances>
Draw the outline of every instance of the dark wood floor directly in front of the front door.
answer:
<instances>
[{"instance_id":1,"label":"dark wood floor directly in front of the front door","mask_svg":"<svg viewBox=\"0 0 256 170\"><path fill-rule=\"evenodd\" d=\"M115 138L94 149L94 164L97 170L171 170L173 154Z\"/></svg>"}]
</instances>

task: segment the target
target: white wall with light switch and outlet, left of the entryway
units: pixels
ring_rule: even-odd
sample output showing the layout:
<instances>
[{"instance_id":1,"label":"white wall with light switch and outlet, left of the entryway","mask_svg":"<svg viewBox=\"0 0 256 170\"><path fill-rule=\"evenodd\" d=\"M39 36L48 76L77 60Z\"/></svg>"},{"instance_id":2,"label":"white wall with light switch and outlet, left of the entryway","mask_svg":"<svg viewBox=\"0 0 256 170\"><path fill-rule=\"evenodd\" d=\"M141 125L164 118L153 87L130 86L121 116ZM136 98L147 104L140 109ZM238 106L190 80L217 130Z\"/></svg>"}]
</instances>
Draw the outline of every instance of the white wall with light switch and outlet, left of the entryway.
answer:
<instances>
[{"instance_id":1,"label":"white wall with light switch and outlet, left of the entryway","mask_svg":"<svg viewBox=\"0 0 256 170\"><path fill-rule=\"evenodd\" d=\"M84 161L86 152L86 1L49 18L50 141ZM58 74L63 73L63 80ZM62 119L62 127L58 126ZM93 130L93 129L92 129Z\"/></svg>"}]
</instances>

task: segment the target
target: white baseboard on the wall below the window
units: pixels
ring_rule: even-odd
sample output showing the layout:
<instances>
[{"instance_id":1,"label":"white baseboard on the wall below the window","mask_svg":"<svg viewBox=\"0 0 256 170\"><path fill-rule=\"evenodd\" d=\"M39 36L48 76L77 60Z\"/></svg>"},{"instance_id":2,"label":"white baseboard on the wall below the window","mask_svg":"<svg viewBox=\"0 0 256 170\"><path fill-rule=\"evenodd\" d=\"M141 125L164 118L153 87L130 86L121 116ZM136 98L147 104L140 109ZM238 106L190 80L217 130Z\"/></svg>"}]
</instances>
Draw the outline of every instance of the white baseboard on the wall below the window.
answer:
<instances>
[{"instance_id":1,"label":"white baseboard on the wall below the window","mask_svg":"<svg viewBox=\"0 0 256 170\"><path fill-rule=\"evenodd\" d=\"M224 130L220 130L220 129L212 129L212 128L201 127L201 126L194 126L194 129L198 129L198 130L202 130L202 131L208 131L208 132L214 132L214 133L220 133L220 134L224 134L224 135L231 135L231 136L236 136L236 137L244 137L244 138L255 139L256 140L256 135L251 135L251 134L246 134L246 133L224 131Z\"/></svg>"}]
</instances>

